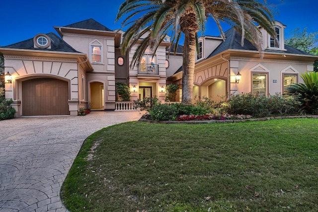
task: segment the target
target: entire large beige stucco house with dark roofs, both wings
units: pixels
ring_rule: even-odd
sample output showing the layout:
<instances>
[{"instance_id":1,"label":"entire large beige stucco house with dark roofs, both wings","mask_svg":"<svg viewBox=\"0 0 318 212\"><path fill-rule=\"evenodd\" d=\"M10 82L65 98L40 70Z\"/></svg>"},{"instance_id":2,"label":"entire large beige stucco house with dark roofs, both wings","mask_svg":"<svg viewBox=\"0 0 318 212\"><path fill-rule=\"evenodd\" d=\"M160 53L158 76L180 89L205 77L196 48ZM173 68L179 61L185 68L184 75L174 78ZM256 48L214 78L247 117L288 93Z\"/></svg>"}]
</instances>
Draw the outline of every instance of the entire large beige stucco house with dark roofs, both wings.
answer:
<instances>
[{"instance_id":1,"label":"entire large beige stucco house with dark roofs, both wings","mask_svg":"<svg viewBox=\"0 0 318 212\"><path fill-rule=\"evenodd\" d=\"M318 56L284 45L285 27L275 22L279 42L260 29L262 57L249 41L241 46L233 28L225 32L225 40L200 37L193 96L220 101L233 93L284 93L285 86L301 82L300 73L313 71ZM5 98L13 100L16 116L77 115L80 107L131 108L132 103L123 107L117 102L117 82L129 85L131 101L156 96L162 102L165 86L173 83L180 86L176 100L181 101L182 46L171 53L170 37L164 38L154 57L146 51L136 66L130 66L137 45L122 55L121 30L110 30L94 19L54 29L58 35L40 33L0 47L5 73L12 78L5 84Z\"/></svg>"}]
</instances>

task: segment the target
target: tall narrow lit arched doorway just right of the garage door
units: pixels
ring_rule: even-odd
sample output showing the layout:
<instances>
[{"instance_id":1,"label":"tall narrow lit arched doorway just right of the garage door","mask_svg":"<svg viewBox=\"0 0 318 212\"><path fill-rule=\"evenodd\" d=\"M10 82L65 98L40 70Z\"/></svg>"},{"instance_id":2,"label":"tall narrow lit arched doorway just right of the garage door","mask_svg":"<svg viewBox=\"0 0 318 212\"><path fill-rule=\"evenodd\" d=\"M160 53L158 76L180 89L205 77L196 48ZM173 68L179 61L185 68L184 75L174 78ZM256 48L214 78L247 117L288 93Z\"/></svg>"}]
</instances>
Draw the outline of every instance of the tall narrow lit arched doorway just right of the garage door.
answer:
<instances>
[{"instance_id":1,"label":"tall narrow lit arched doorway just right of the garage door","mask_svg":"<svg viewBox=\"0 0 318 212\"><path fill-rule=\"evenodd\" d=\"M90 85L90 109L104 109L104 85L100 82L92 82Z\"/></svg>"}]
</instances>

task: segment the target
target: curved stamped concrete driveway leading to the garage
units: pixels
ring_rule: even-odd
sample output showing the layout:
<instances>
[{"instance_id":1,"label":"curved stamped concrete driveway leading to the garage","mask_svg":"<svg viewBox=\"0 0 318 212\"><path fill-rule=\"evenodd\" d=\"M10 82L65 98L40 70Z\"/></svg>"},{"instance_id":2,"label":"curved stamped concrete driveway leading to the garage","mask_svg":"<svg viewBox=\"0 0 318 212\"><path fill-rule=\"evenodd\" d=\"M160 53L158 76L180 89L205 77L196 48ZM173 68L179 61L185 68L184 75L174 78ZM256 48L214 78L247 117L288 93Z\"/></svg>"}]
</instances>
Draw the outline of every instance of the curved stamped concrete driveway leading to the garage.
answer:
<instances>
[{"instance_id":1,"label":"curved stamped concrete driveway leading to the garage","mask_svg":"<svg viewBox=\"0 0 318 212\"><path fill-rule=\"evenodd\" d=\"M84 139L138 111L0 121L0 212L66 212L60 189Z\"/></svg>"}]
</instances>

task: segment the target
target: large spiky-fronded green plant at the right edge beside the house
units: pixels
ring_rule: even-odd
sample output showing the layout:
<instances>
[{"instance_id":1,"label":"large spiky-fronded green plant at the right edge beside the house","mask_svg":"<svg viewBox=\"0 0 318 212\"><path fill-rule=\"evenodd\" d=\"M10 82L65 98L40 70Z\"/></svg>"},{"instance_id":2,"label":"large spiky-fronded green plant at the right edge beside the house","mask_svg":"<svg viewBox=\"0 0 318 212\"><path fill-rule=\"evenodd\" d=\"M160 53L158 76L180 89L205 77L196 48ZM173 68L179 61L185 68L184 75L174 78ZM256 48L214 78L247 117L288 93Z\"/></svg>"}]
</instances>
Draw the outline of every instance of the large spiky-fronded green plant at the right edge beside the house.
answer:
<instances>
[{"instance_id":1,"label":"large spiky-fronded green plant at the right edge beside the house","mask_svg":"<svg viewBox=\"0 0 318 212\"><path fill-rule=\"evenodd\" d=\"M309 113L318 113L318 72L301 74L303 83L292 84L287 87L287 93L300 95L303 108Z\"/></svg>"}]
</instances>

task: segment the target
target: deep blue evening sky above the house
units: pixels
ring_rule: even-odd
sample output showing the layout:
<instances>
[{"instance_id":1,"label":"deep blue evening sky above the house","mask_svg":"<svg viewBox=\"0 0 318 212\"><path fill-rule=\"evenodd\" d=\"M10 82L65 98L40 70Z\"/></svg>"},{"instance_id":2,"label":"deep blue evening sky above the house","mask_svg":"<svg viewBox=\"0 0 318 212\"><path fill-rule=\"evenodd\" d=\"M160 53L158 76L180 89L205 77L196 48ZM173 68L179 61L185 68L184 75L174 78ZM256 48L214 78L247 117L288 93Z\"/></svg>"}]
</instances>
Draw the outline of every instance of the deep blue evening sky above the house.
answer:
<instances>
[{"instance_id":1,"label":"deep blue evening sky above the house","mask_svg":"<svg viewBox=\"0 0 318 212\"><path fill-rule=\"evenodd\" d=\"M53 26L65 26L93 18L114 30L119 5L124 0L3 0L0 3L0 46L13 44L38 33L56 32ZM285 39L296 28L308 27L308 32L318 31L317 0L267 0L274 11L275 20L287 25ZM224 24L224 30L229 26ZM205 35L219 36L212 20L208 21Z\"/></svg>"}]
</instances>

